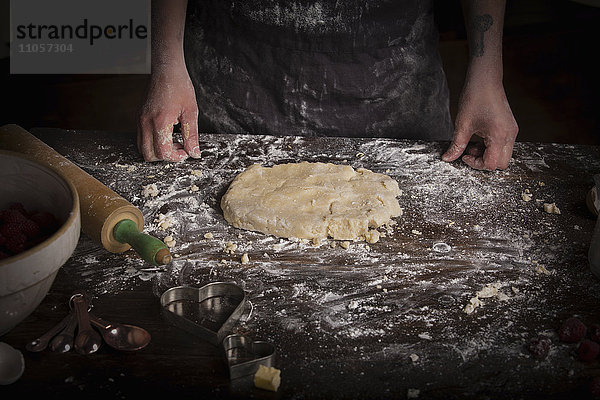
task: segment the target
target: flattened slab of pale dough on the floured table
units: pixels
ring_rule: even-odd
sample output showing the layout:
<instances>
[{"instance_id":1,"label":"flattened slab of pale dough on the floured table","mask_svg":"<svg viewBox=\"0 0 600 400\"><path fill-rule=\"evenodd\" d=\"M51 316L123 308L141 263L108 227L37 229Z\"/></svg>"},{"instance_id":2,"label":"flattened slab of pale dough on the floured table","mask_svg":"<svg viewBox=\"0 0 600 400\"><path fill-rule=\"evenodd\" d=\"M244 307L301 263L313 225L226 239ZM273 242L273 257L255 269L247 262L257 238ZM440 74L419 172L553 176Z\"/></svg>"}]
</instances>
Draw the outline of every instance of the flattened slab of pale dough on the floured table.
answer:
<instances>
[{"instance_id":1,"label":"flattened slab of pale dough on the floured table","mask_svg":"<svg viewBox=\"0 0 600 400\"><path fill-rule=\"evenodd\" d=\"M398 183L368 169L331 163L254 164L221 199L231 225L284 238L379 239L402 215Z\"/></svg>"}]
</instances>

